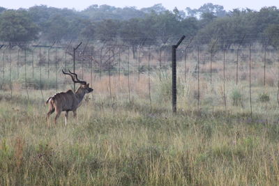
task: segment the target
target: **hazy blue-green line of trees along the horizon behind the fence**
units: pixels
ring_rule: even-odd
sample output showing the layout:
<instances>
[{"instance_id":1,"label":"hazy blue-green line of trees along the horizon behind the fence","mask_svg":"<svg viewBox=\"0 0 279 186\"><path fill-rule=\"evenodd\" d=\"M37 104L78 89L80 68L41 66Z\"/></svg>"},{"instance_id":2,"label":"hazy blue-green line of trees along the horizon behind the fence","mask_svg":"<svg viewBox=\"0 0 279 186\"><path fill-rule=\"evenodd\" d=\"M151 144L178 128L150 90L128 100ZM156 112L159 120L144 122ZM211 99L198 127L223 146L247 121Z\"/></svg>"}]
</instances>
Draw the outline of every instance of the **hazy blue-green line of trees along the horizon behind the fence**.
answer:
<instances>
[{"instance_id":1,"label":"hazy blue-green line of trees along the horizon behind the fence","mask_svg":"<svg viewBox=\"0 0 279 186\"><path fill-rule=\"evenodd\" d=\"M218 42L230 47L257 38L278 47L279 10L271 6L226 11L213 3L185 10L167 10L162 4L142 9L92 5L82 11L44 5L18 10L0 7L0 40L4 42L121 39L137 48L165 45L182 35L199 44Z\"/></svg>"}]
</instances>

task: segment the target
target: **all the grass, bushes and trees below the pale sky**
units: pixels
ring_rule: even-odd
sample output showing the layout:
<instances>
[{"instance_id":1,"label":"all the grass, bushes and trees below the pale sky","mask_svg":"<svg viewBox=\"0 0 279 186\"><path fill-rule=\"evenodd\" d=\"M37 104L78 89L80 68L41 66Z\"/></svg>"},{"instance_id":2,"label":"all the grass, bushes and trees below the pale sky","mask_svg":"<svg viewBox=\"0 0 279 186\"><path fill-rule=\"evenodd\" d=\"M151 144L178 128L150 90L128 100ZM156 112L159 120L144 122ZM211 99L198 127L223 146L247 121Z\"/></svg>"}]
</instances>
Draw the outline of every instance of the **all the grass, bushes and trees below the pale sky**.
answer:
<instances>
[{"instance_id":1,"label":"all the grass, bushes and trees below the pale sky","mask_svg":"<svg viewBox=\"0 0 279 186\"><path fill-rule=\"evenodd\" d=\"M0 7L0 40L19 46L0 45L0 185L278 185L278 17L276 7L227 13L211 3ZM178 50L172 114L166 51L182 34L205 45L198 57L184 50L190 40ZM77 120L52 116L48 127L46 98L73 88L59 73L73 68L74 44L63 41L84 38L93 42L77 50L75 70L94 91ZM34 40L55 45L18 44ZM252 42L249 84L249 47L235 45Z\"/></svg>"}]
</instances>

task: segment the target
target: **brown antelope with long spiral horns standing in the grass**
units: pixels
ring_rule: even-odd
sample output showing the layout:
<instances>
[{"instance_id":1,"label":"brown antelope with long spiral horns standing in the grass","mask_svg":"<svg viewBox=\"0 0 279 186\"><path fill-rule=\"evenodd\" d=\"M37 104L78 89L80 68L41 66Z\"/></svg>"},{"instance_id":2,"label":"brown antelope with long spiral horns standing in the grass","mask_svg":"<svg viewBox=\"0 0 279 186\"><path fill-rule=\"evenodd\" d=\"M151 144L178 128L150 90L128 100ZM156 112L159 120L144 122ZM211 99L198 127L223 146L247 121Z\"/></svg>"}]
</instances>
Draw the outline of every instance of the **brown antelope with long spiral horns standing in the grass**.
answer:
<instances>
[{"instance_id":1,"label":"brown antelope with long spiral horns standing in the grass","mask_svg":"<svg viewBox=\"0 0 279 186\"><path fill-rule=\"evenodd\" d=\"M80 87L74 93L72 90L66 92L56 93L47 99L47 103L50 102L50 110L47 112L47 121L50 118L50 114L56 111L56 116L54 118L54 123L56 124L57 118L59 118L61 111L66 111L65 113L65 125L67 125L68 112L73 111L74 117L77 118L77 108L80 107L80 104L86 93L91 93L93 88L89 87L84 81L81 81L77 78L77 74L73 72L66 73L62 70L64 75L70 75L74 83L79 83ZM75 77L74 77L75 76Z\"/></svg>"}]
</instances>

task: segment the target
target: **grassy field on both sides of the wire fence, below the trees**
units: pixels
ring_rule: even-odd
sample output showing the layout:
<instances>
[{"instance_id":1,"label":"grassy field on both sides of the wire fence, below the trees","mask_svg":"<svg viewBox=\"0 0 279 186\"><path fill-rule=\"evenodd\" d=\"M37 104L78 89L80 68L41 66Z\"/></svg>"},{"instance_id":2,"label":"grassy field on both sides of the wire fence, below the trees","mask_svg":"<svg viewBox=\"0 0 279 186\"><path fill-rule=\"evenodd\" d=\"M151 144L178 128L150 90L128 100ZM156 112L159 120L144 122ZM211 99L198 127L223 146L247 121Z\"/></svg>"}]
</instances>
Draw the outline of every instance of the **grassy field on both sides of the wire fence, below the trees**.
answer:
<instances>
[{"instance_id":1,"label":"grassy field on both sides of the wire fence, below the trees","mask_svg":"<svg viewBox=\"0 0 279 186\"><path fill-rule=\"evenodd\" d=\"M53 69L48 78L46 67L25 80L24 65L18 77L16 66L7 65L0 89L0 185L278 185L277 63L266 68L266 86L262 63L252 63L251 115L247 61L237 86L235 63L227 64L224 87L218 60L212 84L209 63L201 64L199 93L196 61L180 62L177 114L169 69L159 81L158 61L140 81L137 73L128 79L123 72L110 78L94 72L93 93L66 126L63 114L57 125L53 114L48 125L45 100L57 81L58 91L66 91L70 80ZM90 78L87 70L84 79Z\"/></svg>"}]
</instances>

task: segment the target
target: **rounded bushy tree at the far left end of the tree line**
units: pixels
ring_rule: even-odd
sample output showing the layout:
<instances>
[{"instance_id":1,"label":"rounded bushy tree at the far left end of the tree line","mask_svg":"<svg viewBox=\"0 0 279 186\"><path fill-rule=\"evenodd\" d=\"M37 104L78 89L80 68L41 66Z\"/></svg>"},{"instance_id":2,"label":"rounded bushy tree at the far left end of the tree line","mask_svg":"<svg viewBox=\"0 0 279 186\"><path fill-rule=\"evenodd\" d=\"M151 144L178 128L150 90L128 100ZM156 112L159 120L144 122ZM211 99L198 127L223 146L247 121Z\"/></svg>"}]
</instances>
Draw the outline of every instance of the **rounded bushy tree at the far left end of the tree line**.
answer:
<instances>
[{"instance_id":1,"label":"rounded bushy tree at the far left end of the tree line","mask_svg":"<svg viewBox=\"0 0 279 186\"><path fill-rule=\"evenodd\" d=\"M0 40L26 42L36 40L38 26L26 10L6 10L0 14Z\"/></svg>"}]
</instances>

